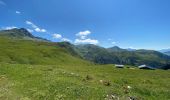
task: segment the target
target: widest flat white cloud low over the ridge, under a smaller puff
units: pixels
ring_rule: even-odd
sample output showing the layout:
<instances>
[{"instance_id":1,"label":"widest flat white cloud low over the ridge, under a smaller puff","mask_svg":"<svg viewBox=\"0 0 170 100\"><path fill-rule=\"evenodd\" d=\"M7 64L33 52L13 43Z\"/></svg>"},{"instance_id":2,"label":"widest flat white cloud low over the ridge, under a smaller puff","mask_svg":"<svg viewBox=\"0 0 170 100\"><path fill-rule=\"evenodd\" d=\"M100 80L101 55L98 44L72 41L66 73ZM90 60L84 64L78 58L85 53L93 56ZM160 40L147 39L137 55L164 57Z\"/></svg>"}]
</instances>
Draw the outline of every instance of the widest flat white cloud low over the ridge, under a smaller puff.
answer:
<instances>
[{"instance_id":1,"label":"widest flat white cloud low over the ridge, under a smaller puff","mask_svg":"<svg viewBox=\"0 0 170 100\"><path fill-rule=\"evenodd\" d=\"M83 40L82 39L76 39L75 43L76 44L98 44L99 41L95 40L95 39L88 38L88 39L83 39Z\"/></svg>"}]
</instances>

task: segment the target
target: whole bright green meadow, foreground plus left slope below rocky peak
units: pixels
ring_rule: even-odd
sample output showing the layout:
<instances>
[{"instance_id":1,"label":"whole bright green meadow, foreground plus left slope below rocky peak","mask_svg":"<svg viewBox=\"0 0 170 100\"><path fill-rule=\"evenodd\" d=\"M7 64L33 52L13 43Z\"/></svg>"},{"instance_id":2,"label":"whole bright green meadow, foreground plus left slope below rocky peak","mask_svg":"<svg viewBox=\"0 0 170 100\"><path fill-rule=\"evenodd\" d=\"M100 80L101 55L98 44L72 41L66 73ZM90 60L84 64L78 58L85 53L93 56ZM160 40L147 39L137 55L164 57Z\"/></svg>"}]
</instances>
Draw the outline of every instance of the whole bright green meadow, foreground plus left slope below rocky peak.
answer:
<instances>
[{"instance_id":1,"label":"whole bright green meadow, foreground plus left slope below rocky peak","mask_svg":"<svg viewBox=\"0 0 170 100\"><path fill-rule=\"evenodd\" d=\"M0 100L168 100L169 70L81 59L58 43L0 38Z\"/></svg>"}]
</instances>

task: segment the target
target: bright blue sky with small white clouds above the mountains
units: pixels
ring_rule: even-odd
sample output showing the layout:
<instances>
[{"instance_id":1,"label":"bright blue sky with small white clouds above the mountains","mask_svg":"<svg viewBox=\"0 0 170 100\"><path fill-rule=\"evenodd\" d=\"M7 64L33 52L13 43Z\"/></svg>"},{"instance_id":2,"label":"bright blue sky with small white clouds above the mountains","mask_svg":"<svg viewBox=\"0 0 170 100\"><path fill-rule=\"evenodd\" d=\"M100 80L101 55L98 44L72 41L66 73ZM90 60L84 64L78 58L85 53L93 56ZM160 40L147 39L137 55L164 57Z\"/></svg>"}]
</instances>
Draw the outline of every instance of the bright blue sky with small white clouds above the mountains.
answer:
<instances>
[{"instance_id":1,"label":"bright blue sky with small white clouds above the mountains","mask_svg":"<svg viewBox=\"0 0 170 100\"><path fill-rule=\"evenodd\" d=\"M0 0L0 28L52 41L170 48L169 0Z\"/></svg>"}]
</instances>

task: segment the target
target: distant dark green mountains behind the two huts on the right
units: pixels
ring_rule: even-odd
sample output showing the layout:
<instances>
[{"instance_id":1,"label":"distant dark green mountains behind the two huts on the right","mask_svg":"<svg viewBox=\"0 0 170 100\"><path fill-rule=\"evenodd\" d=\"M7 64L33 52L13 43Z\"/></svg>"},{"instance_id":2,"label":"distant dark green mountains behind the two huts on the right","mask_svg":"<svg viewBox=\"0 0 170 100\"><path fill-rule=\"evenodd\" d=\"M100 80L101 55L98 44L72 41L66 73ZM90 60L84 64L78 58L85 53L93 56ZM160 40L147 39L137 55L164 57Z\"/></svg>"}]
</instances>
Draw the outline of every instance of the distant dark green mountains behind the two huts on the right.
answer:
<instances>
[{"instance_id":1,"label":"distant dark green mountains behind the two huts on the right","mask_svg":"<svg viewBox=\"0 0 170 100\"><path fill-rule=\"evenodd\" d=\"M169 56L153 50L128 51L119 47L105 49L95 45L77 46L77 49L84 59L100 64L129 64L136 66L147 64L161 68L170 63Z\"/></svg>"}]
</instances>

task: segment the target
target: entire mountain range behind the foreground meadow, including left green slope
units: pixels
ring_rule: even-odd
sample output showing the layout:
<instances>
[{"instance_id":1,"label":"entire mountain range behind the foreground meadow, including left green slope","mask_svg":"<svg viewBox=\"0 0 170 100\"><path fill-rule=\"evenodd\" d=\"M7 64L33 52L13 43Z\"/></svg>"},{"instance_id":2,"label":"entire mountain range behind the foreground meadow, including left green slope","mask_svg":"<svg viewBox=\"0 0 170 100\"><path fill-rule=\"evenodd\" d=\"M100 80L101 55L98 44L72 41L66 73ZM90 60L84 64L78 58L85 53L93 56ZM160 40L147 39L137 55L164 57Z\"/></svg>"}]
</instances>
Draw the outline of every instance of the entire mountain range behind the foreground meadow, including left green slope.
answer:
<instances>
[{"instance_id":1,"label":"entire mountain range behind the foreground meadow, including left green slope","mask_svg":"<svg viewBox=\"0 0 170 100\"><path fill-rule=\"evenodd\" d=\"M158 51L122 49L118 46L103 48L69 42L54 43L35 37L24 28L1 30L0 42L0 62L5 63L57 64L74 60L75 63L90 61L97 64L146 64L154 68L170 68L170 56Z\"/></svg>"}]
</instances>

